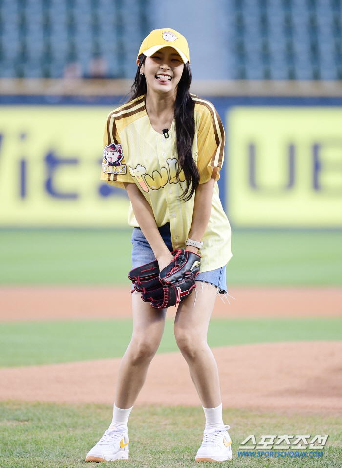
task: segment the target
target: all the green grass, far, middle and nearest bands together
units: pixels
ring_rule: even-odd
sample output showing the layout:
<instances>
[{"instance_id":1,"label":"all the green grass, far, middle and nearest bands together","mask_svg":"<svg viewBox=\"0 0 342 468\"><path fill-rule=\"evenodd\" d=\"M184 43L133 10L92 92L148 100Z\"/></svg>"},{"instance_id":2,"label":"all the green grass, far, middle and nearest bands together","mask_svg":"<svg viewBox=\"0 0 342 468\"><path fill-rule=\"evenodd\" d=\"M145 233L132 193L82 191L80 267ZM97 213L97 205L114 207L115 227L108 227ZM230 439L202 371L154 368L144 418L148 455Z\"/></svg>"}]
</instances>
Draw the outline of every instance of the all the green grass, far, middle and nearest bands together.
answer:
<instances>
[{"instance_id":1,"label":"all the green grass, far, middle and nearest bands together","mask_svg":"<svg viewBox=\"0 0 342 468\"><path fill-rule=\"evenodd\" d=\"M342 285L341 232L233 231L229 285ZM130 231L0 230L2 285L128 285ZM114 267L115 265L115 267ZM159 352L176 351L167 320ZM0 366L121 357L130 320L0 323ZM341 319L213 319L210 346L276 341L341 340ZM107 428L112 408L0 402L0 466L85 468L85 456ZM337 468L342 459L341 419L328 415L224 410L234 459L221 466ZM198 467L201 408L136 407L129 420L132 468ZM329 434L323 458L239 458L238 446L255 434ZM202 465L201 465L202 466ZM207 464L205 464L207 466Z\"/></svg>"}]
</instances>

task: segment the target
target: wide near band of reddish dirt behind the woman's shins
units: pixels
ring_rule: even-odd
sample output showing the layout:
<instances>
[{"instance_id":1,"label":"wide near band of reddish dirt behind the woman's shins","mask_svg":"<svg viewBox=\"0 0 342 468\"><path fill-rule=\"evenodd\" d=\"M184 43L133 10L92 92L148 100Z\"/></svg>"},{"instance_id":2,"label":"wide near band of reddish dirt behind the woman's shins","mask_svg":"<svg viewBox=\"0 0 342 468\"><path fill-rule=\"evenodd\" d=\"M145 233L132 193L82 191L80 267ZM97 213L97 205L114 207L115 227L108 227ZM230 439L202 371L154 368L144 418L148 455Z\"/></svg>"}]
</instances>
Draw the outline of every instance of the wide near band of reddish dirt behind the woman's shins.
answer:
<instances>
[{"instance_id":1,"label":"wide near band of reddish dirt behind the woman's shins","mask_svg":"<svg viewBox=\"0 0 342 468\"><path fill-rule=\"evenodd\" d=\"M214 348L224 407L342 413L342 342ZM121 359L0 369L0 399L113 403ZM198 406L180 353L156 355L137 405Z\"/></svg>"}]
</instances>

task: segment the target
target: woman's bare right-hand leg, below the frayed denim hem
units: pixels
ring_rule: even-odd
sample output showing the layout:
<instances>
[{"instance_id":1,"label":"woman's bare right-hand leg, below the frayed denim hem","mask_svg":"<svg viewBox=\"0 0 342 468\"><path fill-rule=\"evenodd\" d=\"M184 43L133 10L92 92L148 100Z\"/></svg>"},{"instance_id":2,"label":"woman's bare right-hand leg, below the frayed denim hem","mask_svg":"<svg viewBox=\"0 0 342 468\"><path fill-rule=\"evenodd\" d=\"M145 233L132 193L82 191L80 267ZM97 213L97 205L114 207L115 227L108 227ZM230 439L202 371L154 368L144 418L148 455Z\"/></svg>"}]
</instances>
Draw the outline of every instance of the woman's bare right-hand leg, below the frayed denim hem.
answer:
<instances>
[{"instance_id":1,"label":"woman's bare right-hand leg, below the frayed denim hem","mask_svg":"<svg viewBox=\"0 0 342 468\"><path fill-rule=\"evenodd\" d=\"M221 403L217 364L207 343L209 320L217 288L196 281L197 292L178 306L174 322L177 345L189 365L190 375L205 408Z\"/></svg>"}]
</instances>

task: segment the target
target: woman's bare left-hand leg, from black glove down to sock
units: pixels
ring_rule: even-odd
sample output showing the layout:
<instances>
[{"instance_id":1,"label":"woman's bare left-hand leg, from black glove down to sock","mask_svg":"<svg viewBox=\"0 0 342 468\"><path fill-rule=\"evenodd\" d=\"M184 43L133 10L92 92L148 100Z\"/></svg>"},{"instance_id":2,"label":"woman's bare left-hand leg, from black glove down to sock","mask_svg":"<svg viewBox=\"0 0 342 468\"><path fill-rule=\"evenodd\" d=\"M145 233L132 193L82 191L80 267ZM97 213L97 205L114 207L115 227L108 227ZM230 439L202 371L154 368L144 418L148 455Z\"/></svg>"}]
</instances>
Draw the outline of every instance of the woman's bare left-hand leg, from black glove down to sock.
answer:
<instances>
[{"instance_id":1,"label":"woman's bare left-hand leg, from black glove down to sock","mask_svg":"<svg viewBox=\"0 0 342 468\"><path fill-rule=\"evenodd\" d=\"M152 358L159 348L164 332L167 309L159 311L133 292L133 334L122 358L115 395L115 405L126 409L133 406Z\"/></svg>"}]
</instances>

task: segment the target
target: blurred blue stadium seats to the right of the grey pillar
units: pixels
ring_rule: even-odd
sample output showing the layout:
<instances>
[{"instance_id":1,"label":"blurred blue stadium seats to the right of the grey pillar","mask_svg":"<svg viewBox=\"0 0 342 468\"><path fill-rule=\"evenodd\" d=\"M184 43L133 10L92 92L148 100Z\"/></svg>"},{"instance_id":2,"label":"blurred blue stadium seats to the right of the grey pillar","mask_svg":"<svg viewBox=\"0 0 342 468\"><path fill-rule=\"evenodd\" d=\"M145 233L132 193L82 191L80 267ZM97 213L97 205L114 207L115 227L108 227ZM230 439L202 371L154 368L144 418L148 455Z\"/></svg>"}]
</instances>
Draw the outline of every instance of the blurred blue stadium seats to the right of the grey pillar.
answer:
<instances>
[{"instance_id":1,"label":"blurred blue stadium seats to the right of the grey pillar","mask_svg":"<svg viewBox=\"0 0 342 468\"><path fill-rule=\"evenodd\" d=\"M341 79L340 0L235 0L232 14L232 78Z\"/></svg>"}]
</instances>

